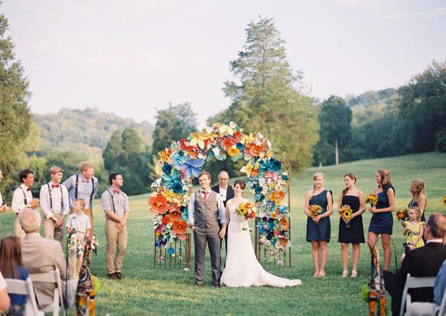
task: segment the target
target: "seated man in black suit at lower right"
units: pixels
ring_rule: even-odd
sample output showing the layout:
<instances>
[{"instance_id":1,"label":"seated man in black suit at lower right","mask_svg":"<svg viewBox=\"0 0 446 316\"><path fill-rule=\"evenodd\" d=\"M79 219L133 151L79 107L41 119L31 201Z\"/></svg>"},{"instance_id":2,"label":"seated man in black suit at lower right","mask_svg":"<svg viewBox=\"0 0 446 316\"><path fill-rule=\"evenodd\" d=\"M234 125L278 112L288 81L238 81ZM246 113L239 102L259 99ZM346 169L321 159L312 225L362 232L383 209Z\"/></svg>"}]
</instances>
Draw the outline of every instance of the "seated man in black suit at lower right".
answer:
<instances>
[{"instance_id":1,"label":"seated man in black suit at lower right","mask_svg":"<svg viewBox=\"0 0 446 316\"><path fill-rule=\"evenodd\" d=\"M386 289L392 296L392 313L399 314L401 295L408 274L414 277L436 276L446 260L446 247L443 239L446 236L446 217L439 213L431 214L425 225L424 237L426 245L401 256L401 269L397 274L384 271ZM410 289L412 302L433 302L434 291L432 288ZM441 300L441 299L440 299ZM404 306L401 306L404 308Z\"/></svg>"}]
</instances>

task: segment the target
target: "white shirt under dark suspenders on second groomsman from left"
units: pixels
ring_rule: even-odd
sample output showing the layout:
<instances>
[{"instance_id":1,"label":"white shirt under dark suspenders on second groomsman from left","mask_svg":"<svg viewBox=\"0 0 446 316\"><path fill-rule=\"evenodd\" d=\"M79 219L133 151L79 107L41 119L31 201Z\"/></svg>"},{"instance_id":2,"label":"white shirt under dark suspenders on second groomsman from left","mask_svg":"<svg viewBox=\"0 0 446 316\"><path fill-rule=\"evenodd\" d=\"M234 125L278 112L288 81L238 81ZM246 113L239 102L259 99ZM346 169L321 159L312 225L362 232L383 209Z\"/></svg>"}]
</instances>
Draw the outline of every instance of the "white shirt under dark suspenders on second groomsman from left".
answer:
<instances>
[{"instance_id":1,"label":"white shirt under dark suspenders on second groomsman from left","mask_svg":"<svg viewBox=\"0 0 446 316\"><path fill-rule=\"evenodd\" d=\"M47 219L51 218L54 213L69 215L70 212L67 188L61 183L58 188L53 188L53 184L50 181L40 188L40 209ZM51 191L51 199L49 197L48 186ZM53 204L53 208L51 208L51 203Z\"/></svg>"}]
</instances>

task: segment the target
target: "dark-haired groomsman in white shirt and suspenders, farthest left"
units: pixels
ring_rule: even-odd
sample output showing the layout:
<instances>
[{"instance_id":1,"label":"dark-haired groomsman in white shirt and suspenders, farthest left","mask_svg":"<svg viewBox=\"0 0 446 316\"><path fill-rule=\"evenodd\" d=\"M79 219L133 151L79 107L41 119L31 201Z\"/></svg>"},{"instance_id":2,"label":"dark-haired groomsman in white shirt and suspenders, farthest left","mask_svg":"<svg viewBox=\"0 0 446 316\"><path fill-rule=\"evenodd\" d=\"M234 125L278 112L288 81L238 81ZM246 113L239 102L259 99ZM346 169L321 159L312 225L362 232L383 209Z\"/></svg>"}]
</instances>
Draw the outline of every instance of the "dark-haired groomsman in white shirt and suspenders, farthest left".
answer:
<instances>
[{"instance_id":1,"label":"dark-haired groomsman in white shirt and suspenders, farthest left","mask_svg":"<svg viewBox=\"0 0 446 316\"><path fill-rule=\"evenodd\" d=\"M16 213L14 220L14 234L17 237L25 237L25 231L22 229L19 221L19 215L24 208L37 208L38 199L32 198L31 187L34 184L34 173L30 169L19 172L21 185L14 190L12 194L11 208Z\"/></svg>"}]
</instances>

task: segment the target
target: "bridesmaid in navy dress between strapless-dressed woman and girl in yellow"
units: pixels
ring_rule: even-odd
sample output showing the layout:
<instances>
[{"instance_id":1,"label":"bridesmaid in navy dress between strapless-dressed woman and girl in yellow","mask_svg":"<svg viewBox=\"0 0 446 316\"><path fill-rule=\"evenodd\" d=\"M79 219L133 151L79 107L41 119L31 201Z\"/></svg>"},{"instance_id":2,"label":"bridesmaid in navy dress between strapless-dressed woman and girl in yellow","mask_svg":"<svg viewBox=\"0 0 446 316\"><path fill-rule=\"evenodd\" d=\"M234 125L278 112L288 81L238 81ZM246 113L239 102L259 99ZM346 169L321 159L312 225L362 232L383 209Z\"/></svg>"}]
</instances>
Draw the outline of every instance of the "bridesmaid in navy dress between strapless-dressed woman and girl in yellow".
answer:
<instances>
[{"instance_id":1,"label":"bridesmaid in navy dress between strapless-dressed woman and girl in yellow","mask_svg":"<svg viewBox=\"0 0 446 316\"><path fill-rule=\"evenodd\" d=\"M380 169L375 174L375 180L378 184L375 194L378 195L376 207L371 207L373 213L368 226L367 243L372 249L376 244L378 235L381 234L381 243L384 249L384 270L388 270L390 266L390 235L393 228L392 212L395 210L395 189L390 182L390 172L386 169Z\"/></svg>"}]
</instances>

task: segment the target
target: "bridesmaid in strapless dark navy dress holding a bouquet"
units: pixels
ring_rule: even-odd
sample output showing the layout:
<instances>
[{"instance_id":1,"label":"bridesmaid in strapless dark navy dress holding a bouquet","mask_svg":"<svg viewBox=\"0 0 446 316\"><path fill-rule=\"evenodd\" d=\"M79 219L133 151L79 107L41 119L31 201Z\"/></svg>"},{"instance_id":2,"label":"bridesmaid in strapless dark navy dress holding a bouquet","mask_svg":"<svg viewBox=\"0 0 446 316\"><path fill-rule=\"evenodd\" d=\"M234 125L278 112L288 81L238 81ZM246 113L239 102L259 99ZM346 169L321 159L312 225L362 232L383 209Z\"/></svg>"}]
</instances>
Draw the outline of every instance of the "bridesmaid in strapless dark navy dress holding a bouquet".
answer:
<instances>
[{"instance_id":1,"label":"bridesmaid in strapless dark navy dress holding a bouquet","mask_svg":"<svg viewBox=\"0 0 446 316\"><path fill-rule=\"evenodd\" d=\"M364 193L355 188L356 176L353 173L344 175L345 189L339 195L339 210L343 205L349 205L352 210L350 219L339 219L339 238L341 243L342 278L349 275L349 243L353 246L353 269L351 278L357 276L357 263L360 261L360 243L365 243L362 213L366 210ZM347 228L349 223L350 228Z\"/></svg>"}]
</instances>

